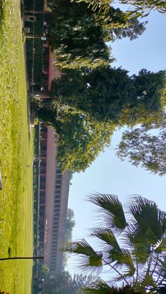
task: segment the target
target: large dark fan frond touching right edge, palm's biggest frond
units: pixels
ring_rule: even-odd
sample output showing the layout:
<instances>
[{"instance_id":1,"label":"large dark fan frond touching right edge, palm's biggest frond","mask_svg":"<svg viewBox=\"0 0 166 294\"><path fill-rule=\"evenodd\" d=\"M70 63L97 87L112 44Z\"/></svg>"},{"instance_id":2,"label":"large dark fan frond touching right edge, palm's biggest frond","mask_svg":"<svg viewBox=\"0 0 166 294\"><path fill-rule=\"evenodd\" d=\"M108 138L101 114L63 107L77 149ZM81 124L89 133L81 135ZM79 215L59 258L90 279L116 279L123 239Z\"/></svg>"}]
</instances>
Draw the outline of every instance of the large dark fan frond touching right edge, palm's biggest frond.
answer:
<instances>
[{"instance_id":1,"label":"large dark fan frond touching right edge, palm's biggest frond","mask_svg":"<svg viewBox=\"0 0 166 294\"><path fill-rule=\"evenodd\" d=\"M165 234L166 214L158 209L155 202L141 196L136 196L134 202L129 209L138 224L142 239L148 246L155 246Z\"/></svg>"}]
</instances>

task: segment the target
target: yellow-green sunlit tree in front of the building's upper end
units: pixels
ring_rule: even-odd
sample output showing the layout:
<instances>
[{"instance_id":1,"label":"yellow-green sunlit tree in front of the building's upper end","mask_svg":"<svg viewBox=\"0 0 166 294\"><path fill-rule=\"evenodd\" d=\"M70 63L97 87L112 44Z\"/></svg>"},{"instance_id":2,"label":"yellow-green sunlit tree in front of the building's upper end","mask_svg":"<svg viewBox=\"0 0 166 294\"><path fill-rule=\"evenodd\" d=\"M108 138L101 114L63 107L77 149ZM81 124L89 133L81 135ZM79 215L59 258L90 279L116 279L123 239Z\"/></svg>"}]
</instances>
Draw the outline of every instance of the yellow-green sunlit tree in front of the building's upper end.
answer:
<instances>
[{"instance_id":1,"label":"yellow-green sunlit tree in front of the building's upper end","mask_svg":"<svg viewBox=\"0 0 166 294\"><path fill-rule=\"evenodd\" d=\"M49 108L38 108L37 115L40 121L53 126L58 133L61 170L85 171L104 147L110 145L115 124L91 119L89 114L60 102Z\"/></svg>"}]
</instances>

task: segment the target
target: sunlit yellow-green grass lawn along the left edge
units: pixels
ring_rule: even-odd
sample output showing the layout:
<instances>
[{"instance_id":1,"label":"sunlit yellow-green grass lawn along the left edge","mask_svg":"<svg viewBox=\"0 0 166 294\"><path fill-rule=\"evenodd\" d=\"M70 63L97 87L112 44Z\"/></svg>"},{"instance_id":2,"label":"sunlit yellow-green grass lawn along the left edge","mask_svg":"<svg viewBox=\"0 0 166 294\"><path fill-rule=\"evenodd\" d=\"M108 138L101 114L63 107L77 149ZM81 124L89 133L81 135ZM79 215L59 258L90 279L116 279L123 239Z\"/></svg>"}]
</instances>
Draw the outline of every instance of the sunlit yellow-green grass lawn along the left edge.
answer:
<instances>
[{"instance_id":1,"label":"sunlit yellow-green grass lawn along the left edge","mask_svg":"<svg viewBox=\"0 0 166 294\"><path fill-rule=\"evenodd\" d=\"M19 0L0 0L0 48L0 258L32 256L32 135ZM0 290L30 294L31 278L31 260L0 262Z\"/></svg>"}]
</instances>

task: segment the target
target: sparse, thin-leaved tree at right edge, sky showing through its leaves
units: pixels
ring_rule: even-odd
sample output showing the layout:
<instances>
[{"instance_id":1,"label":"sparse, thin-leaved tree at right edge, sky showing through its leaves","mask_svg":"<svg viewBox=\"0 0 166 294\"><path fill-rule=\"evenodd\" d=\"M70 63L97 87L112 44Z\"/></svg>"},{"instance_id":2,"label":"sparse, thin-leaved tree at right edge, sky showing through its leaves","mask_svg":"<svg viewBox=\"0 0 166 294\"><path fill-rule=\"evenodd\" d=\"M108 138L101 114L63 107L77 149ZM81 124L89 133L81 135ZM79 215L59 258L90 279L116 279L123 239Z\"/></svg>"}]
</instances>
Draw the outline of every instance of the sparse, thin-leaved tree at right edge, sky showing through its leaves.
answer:
<instances>
[{"instance_id":1,"label":"sparse, thin-leaved tree at right edge, sky showing through its leaves","mask_svg":"<svg viewBox=\"0 0 166 294\"><path fill-rule=\"evenodd\" d=\"M129 158L134 166L141 165L146 170L158 175L166 174L166 131L160 129L158 135L149 133L146 127L132 128L125 131L118 145L117 156Z\"/></svg>"}]
</instances>

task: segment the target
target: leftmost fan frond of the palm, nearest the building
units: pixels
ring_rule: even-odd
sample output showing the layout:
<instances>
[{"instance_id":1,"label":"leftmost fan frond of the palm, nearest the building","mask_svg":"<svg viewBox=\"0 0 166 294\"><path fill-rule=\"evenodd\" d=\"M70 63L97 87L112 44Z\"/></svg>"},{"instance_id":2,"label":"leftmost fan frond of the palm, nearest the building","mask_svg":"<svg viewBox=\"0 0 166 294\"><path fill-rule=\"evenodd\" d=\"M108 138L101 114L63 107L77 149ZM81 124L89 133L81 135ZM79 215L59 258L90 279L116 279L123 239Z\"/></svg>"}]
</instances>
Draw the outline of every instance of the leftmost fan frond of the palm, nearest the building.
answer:
<instances>
[{"instance_id":1,"label":"leftmost fan frond of the palm, nearest the building","mask_svg":"<svg viewBox=\"0 0 166 294\"><path fill-rule=\"evenodd\" d=\"M75 253L80 255L79 267L83 272L93 272L99 274L102 270L102 257L101 252L96 252L84 239L69 243L65 247L65 252Z\"/></svg>"}]
</instances>

